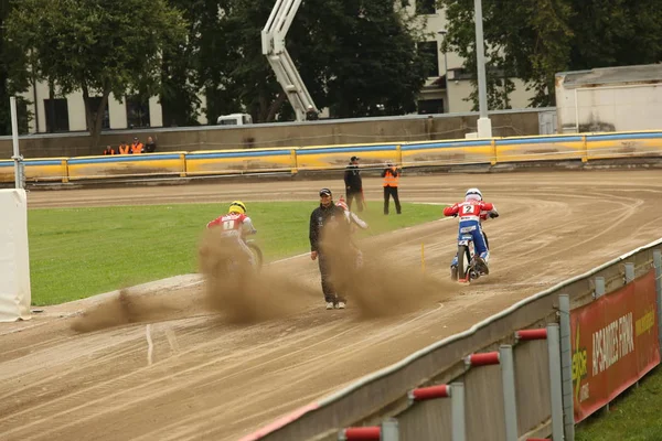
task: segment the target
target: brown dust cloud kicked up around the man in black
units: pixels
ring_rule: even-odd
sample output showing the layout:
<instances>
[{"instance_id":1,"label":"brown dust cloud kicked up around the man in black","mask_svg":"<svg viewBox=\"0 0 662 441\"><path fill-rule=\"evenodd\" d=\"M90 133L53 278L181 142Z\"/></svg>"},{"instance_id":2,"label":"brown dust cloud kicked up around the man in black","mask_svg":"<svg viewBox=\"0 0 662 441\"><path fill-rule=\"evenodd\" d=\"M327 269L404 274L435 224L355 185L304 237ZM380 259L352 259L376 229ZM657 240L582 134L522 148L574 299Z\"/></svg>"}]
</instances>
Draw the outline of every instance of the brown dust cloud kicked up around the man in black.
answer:
<instances>
[{"instance_id":1,"label":"brown dust cloud kicked up around the man in black","mask_svg":"<svg viewBox=\"0 0 662 441\"><path fill-rule=\"evenodd\" d=\"M346 232L330 229L321 249L329 262L331 282L348 300L341 313L357 320L394 316L428 308L458 292L458 284L423 275L399 261L397 247L375 241L359 249ZM255 271L239 245L216 228L205 230L197 248L204 293L177 295L132 293L124 289L76 318L71 327L79 333L130 323L154 322L210 312L222 322L246 325L291 316L318 298L323 308L319 272L314 282L297 280L284 265ZM228 267L228 261L234 265ZM301 263L287 263L301 265ZM308 300L307 300L308 299Z\"/></svg>"}]
</instances>

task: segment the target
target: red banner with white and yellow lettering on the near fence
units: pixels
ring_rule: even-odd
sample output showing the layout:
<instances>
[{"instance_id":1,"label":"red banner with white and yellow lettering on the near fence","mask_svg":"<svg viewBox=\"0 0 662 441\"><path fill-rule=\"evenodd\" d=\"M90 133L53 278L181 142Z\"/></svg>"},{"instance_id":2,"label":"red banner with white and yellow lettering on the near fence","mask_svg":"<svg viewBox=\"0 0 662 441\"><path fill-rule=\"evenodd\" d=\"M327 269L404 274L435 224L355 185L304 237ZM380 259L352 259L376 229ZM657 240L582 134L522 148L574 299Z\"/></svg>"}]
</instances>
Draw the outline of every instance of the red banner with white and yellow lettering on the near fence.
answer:
<instances>
[{"instance_id":1,"label":"red banner with white and yellow lettering on the near fence","mask_svg":"<svg viewBox=\"0 0 662 441\"><path fill-rule=\"evenodd\" d=\"M660 364L655 272L570 311L575 422Z\"/></svg>"}]
</instances>

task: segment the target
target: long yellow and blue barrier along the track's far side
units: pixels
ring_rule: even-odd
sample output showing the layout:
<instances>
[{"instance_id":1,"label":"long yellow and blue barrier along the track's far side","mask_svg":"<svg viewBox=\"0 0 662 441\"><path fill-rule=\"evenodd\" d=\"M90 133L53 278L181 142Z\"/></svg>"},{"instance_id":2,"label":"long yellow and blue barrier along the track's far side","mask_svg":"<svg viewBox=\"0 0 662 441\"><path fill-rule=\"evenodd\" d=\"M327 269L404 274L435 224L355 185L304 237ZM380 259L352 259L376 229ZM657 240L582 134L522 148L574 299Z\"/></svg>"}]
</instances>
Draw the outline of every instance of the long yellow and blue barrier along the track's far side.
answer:
<instances>
[{"instance_id":1,"label":"long yellow and blue barrier along the track's far side","mask_svg":"<svg viewBox=\"0 0 662 441\"><path fill-rule=\"evenodd\" d=\"M581 133L425 142L235 149L110 157L26 159L29 183L89 180L289 174L342 170L359 155L362 168L387 161L403 169L517 162L662 157L662 131ZM0 183L13 182L13 161L0 161Z\"/></svg>"}]
</instances>

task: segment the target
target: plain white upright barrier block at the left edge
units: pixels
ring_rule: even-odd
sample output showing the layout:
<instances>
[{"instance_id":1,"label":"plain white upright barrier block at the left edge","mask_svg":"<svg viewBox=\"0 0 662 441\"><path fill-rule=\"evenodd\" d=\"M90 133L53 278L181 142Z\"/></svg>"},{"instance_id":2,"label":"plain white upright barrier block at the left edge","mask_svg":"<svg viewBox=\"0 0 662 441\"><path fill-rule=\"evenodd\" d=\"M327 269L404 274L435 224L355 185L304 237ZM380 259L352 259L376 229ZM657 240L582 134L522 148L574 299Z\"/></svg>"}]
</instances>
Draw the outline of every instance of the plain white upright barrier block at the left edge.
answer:
<instances>
[{"instance_id":1,"label":"plain white upright barrier block at the left edge","mask_svg":"<svg viewBox=\"0 0 662 441\"><path fill-rule=\"evenodd\" d=\"M29 320L31 292L25 191L0 190L0 322Z\"/></svg>"}]
</instances>

